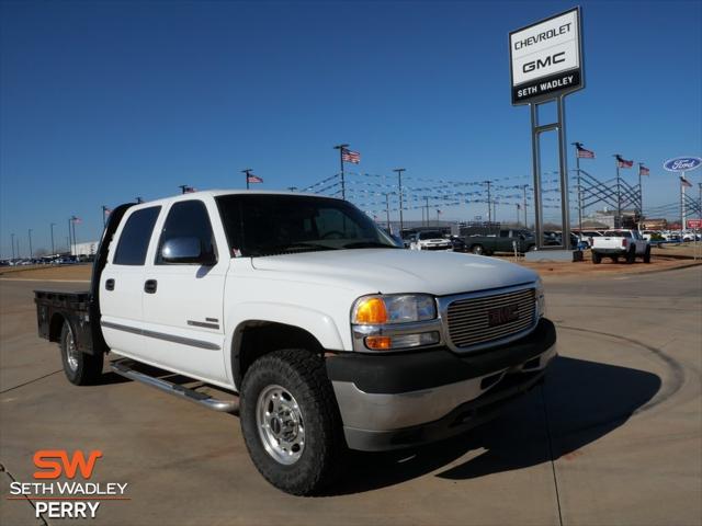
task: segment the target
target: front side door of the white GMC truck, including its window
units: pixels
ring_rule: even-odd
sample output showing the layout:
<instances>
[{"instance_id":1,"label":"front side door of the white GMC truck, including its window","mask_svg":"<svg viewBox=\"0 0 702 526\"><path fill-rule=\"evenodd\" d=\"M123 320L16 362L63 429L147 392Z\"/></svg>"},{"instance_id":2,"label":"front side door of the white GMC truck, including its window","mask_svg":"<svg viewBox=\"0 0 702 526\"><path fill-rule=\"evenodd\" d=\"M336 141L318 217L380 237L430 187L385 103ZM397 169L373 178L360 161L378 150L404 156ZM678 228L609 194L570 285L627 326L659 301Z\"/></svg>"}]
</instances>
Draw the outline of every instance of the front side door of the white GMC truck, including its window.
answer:
<instances>
[{"instance_id":1,"label":"front side door of the white GMC truck, including its window","mask_svg":"<svg viewBox=\"0 0 702 526\"><path fill-rule=\"evenodd\" d=\"M167 210L144 275L144 283L150 283L144 294L144 323L152 362L225 382L223 302L229 256L224 231L213 229L211 217L219 220L213 199L179 201ZM163 261L161 247L179 238L196 238L203 251L216 255L214 264Z\"/></svg>"}]
</instances>

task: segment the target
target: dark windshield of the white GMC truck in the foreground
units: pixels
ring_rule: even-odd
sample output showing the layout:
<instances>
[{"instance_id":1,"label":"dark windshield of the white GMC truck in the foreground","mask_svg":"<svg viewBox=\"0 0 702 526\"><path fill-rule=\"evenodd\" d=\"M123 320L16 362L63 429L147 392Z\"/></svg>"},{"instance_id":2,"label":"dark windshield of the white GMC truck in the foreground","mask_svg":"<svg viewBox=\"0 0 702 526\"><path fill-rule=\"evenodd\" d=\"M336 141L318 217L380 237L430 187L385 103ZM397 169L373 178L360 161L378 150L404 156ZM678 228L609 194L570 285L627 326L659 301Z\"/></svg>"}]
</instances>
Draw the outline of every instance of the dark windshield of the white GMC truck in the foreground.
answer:
<instances>
[{"instance_id":1,"label":"dark windshield of the white GMC truck in the foreground","mask_svg":"<svg viewBox=\"0 0 702 526\"><path fill-rule=\"evenodd\" d=\"M216 201L235 256L398 248L346 201L275 194L223 195Z\"/></svg>"}]
</instances>

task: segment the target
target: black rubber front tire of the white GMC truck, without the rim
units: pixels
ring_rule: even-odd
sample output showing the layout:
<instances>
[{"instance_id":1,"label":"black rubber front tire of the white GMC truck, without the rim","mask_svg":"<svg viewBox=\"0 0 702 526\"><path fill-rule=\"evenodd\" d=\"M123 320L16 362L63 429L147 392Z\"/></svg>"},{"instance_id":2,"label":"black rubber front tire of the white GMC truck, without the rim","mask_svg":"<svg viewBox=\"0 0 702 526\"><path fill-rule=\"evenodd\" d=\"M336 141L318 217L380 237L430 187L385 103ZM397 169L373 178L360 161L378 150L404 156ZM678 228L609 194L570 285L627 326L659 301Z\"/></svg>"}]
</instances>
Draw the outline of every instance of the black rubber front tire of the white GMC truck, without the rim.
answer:
<instances>
[{"instance_id":1,"label":"black rubber front tire of the white GMC truck, without the rim","mask_svg":"<svg viewBox=\"0 0 702 526\"><path fill-rule=\"evenodd\" d=\"M305 445L292 465L265 449L257 424L257 403L270 386L288 390L299 405ZM306 350L275 351L257 359L241 385L241 432L249 455L261 474L275 488L293 495L312 495L329 485L346 453L341 416L324 359Z\"/></svg>"}]
</instances>

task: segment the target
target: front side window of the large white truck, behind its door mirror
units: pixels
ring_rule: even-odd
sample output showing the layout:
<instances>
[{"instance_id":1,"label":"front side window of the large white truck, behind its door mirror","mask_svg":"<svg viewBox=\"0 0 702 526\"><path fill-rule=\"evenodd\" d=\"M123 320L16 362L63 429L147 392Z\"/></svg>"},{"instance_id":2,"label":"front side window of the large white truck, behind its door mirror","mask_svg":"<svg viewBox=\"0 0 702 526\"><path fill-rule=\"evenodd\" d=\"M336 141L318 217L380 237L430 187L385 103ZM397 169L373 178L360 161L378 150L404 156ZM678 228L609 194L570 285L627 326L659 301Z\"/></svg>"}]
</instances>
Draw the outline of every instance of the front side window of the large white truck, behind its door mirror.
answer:
<instances>
[{"instance_id":1,"label":"front side window of the large white truck, behind its door mirror","mask_svg":"<svg viewBox=\"0 0 702 526\"><path fill-rule=\"evenodd\" d=\"M171 206L161 230L156 252L156 264L167 265L161 259L163 243L174 238L196 238L204 254L215 254L215 238L210 214L202 201L181 201ZM199 263L193 263L199 264Z\"/></svg>"}]
</instances>

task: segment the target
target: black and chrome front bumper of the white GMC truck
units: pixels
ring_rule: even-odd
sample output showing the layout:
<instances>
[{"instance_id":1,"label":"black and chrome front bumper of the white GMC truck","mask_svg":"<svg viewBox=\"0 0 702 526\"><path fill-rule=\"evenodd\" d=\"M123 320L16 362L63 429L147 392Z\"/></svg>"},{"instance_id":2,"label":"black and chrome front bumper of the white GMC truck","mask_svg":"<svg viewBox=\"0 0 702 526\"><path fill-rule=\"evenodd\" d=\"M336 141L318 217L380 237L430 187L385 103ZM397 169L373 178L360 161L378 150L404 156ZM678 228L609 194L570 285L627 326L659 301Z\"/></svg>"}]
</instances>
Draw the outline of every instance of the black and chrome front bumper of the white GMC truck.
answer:
<instances>
[{"instance_id":1,"label":"black and chrome front bumper of the white GMC truck","mask_svg":"<svg viewBox=\"0 0 702 526\"><path fill-rule=\"evenodd\" d=\"M396 449L479 425L543 378L555 343L555 328L543 319L521 340L471 355L433 348L329 357L347 444Z\"/></svg>"}]
</instances>

